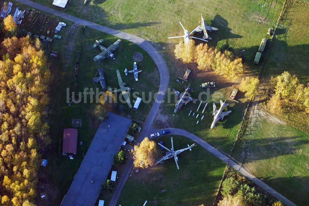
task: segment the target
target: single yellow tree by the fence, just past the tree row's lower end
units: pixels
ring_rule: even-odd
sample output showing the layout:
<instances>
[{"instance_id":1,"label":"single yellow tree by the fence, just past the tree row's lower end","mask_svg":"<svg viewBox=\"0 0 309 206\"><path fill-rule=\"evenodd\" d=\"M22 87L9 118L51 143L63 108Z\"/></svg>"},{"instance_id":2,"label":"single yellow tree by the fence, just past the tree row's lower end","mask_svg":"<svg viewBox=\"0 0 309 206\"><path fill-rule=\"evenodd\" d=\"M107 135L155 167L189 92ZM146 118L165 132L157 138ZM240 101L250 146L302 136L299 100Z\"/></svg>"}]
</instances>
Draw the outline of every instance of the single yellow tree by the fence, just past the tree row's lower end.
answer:
<instances>
[{"instance_id":1,"label":"single yellow tree by the fence, just past the tree row's lower end","mask_svg":"<svg viewBox=\"0 0 309 206\"><path fill-rule=\"evenodd\" d=\"M249 100L253 100L259 93L260 80L257 77L245 77L241 80L239 90L246 92L245 95Z\"/></svg>"}]
</instances>

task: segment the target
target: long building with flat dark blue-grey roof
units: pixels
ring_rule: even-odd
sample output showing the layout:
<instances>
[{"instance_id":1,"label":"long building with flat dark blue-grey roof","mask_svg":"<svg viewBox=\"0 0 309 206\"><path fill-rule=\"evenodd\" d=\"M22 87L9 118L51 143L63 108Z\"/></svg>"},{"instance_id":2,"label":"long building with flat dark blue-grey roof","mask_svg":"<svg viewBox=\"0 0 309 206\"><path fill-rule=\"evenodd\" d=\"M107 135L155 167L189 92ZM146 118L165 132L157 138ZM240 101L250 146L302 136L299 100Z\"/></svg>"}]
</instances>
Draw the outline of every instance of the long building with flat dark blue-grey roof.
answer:
<instances>
[{"instance_id":1,"label":"long building with flat dark blue-grey roof","mask_svg":"<svg viewBox=\"0 0 309 206\"><path fill-rule=\"evenodd\" d=\"M132 120L108 112L101 122L61 205L94 205Z\"/></svg>"}]
</instances>

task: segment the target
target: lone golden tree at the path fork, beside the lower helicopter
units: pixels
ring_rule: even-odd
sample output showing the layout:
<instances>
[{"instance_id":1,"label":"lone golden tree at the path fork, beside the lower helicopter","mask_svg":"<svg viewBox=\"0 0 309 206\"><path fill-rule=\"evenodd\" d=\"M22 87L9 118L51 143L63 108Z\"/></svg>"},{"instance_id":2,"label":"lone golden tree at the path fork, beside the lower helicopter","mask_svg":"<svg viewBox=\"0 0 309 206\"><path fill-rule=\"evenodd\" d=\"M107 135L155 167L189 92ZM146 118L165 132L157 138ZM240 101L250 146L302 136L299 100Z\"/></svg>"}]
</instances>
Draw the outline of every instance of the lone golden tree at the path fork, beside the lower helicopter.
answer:
<instances>
[{"instance_id":1,"label":"lone golden tree at the path fork, beside the lower helicopter","mask_svg":"<svg viewBox=\"0 0 309 206\"><path fill-rule=\"evenodd\" d=\"M155 164L155 158L157 156L156 145L148 137L145 137L141 144L134 145L132 152L135 167L147 168Z\"/></svg>"}]
</instances>

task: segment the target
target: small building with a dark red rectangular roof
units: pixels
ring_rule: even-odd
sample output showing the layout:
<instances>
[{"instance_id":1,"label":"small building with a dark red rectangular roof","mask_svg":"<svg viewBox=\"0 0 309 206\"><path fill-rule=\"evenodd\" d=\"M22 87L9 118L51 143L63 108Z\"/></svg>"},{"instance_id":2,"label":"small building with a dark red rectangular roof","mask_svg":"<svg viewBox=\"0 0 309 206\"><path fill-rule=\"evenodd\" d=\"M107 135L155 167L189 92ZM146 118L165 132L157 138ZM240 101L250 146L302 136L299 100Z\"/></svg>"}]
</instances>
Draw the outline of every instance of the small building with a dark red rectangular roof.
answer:
<instances>
[{"instance_id":1,"label":"small building with a dark red rectangular roof","mask_svg":"<svg viewBox=\"0 0 309 206\"><path fill-rule=\"evenodd\" d=\"M63 144L62 155L75 154L77 148L77 129L64 129L63 131Z\"/></svg>"}]
</instances>

